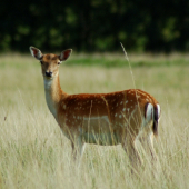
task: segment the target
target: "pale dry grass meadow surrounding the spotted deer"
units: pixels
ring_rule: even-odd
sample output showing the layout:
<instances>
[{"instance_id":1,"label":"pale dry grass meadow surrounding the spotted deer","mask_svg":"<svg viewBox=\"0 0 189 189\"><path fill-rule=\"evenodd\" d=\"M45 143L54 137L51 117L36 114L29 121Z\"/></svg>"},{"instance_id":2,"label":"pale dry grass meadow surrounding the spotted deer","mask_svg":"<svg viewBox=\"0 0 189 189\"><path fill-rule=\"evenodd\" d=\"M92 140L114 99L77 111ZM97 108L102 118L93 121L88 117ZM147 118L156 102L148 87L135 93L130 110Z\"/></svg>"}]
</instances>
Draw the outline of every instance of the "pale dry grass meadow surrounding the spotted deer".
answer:
<instances>
[{"instance_id":1,"label":"pale dry grass meadow surrounding the spotted deer","mask_svg":"<svg viewBox=\"0 0 189 189\"><path fill-rule=\"evenodd\" d=\"M72 54L60 67L68 93L111 92L139 88L161 105L155 139L155 178L145 155L139 175L131 173L120 146L88 145L80 168L71 146L49 112L40 63L29 53L0 56L0 188L115 189L189 188L189 56Z\"/></svg>"}]
</instances>

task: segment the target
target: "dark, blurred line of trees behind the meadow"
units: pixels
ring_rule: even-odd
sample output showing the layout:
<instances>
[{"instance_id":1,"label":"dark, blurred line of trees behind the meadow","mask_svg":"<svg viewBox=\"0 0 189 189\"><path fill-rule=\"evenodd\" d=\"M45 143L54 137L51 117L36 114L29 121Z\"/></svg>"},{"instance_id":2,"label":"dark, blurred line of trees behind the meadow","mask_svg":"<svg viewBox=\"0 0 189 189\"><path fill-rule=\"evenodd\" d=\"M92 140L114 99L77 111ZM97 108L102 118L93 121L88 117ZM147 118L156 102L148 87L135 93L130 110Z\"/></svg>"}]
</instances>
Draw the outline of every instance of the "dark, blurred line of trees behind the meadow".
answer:
<instances>
[{"instance_id":1,"label":"dark, blurred line of trees behind the meadow","mask_svg":"<svg viewBox=\"0 0 189 189\"><path fill-rule=\"evenodd\" d=\"M189 51L188 0L6 0L0 52L72 48L78 52Z\"/></svg>"}]
</instances>

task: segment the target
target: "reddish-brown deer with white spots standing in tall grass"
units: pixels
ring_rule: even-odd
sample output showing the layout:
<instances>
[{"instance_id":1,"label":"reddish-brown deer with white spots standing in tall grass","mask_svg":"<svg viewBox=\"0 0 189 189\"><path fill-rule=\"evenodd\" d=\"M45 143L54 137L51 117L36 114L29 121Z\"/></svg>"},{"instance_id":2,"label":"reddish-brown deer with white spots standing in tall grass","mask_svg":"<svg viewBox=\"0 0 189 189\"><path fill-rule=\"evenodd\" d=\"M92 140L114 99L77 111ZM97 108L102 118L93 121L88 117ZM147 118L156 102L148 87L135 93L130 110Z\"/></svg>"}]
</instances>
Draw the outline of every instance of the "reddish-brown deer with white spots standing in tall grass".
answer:
<instances>
[{"instance_id":1,"label":"reddish-brown deer with white spots standing in tall grass","mask_svg":"<svg viewBox=\"0 0 189 189\"><path fill-rule=\"evenodd\" d=\"M153 137L158 136L160 105L151 94L140 89L68 94L60 87L59 66L72 49L59 56L43 54L34 47L29 49L41 63L47 106L70 140L74 159L82 157L86 143L121 145L137 169L141 165L136 146L140 136L145 136L151 158L156 159Z\"/></svg>"}]
</instances>

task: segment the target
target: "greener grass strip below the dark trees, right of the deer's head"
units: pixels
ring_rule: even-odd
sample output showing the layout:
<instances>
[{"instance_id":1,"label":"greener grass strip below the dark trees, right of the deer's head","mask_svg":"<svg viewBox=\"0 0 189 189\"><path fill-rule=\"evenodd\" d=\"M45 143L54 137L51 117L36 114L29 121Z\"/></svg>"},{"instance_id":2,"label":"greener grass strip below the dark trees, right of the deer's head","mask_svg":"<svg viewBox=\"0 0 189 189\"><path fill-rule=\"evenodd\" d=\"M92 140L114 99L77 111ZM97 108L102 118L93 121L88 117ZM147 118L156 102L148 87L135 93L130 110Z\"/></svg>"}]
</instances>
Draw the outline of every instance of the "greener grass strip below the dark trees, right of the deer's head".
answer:
<instances>
[{"instance_id":1,"label":"greener grass strip below the dark trees, right of the deer's head","mask_svg":"<svg viewBox=\"0 0 189 189\"><path fill-rule=\"evenodd\" d=\"M169 66L187 66L188 54L129 54L133 67L169 67ZM74 54L73 58L66 62L68 66L99 66L106 68L128 67L125 54L119 53L93 53L93 54Z\"/></svg>"}]
</instances>

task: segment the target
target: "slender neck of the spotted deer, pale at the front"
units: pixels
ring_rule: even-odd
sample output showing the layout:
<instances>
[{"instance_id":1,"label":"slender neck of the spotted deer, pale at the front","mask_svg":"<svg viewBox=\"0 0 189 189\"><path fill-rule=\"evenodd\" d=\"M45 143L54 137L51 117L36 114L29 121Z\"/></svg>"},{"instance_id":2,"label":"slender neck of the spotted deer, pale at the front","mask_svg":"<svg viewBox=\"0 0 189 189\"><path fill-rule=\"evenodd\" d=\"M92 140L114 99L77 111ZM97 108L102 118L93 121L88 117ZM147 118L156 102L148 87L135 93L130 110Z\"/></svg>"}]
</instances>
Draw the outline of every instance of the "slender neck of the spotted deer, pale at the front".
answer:
<instances>
[{"instance_id":1,"label":"slender neck of the spotted deer, pale at the front","mask_svg":"<svg viewBox=\"0 0 189 189\"><path fill-rule=\"evenodd\" d=\"M57 120L58 106L66 93L61 90L59 76L54 77L53 79L44 78L43 81L48 108Z\"/></svg>"}]
</instances>

